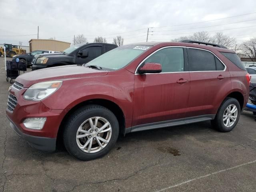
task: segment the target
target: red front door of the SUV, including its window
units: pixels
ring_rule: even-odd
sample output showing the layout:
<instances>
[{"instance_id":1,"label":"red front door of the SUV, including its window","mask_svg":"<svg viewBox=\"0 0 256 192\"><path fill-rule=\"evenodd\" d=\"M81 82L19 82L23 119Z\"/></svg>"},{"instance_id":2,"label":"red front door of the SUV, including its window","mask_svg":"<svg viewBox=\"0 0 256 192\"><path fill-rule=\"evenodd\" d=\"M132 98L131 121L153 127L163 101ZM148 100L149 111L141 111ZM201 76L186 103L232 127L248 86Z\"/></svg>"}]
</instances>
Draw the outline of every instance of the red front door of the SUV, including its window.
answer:
<instances>
[{"instance_id":1,"label":"red front door of the SUV, including its window","mask_svg":"<svg viewBox=\"0 0 256 192\"><path fill-rule=\"evenodd\" d=\"M186 117L190 90L186 49L161 48L142 63L158 63L158 74L135 74L132 126Z\"/></svg>"}]
</instances>

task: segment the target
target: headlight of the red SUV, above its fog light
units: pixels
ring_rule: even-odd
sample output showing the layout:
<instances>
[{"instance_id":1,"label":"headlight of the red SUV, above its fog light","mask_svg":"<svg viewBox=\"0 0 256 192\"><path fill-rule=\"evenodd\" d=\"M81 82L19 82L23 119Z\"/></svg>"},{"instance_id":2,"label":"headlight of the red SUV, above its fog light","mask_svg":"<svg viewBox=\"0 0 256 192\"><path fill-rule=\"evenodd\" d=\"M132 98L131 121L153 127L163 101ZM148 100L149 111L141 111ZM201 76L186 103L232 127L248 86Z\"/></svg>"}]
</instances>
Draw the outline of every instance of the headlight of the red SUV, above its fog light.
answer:
<instances>
[{"instance_id":1,"label":"headlight of the red SUV, above its fog light","mask_svg":"<svg viewBox=\"0 0 256 192\"><path fill-rule=\"evenodd\" d=\"M26 90L23 97L24 99L30 101L40 101L58 90L61 85L62 81L46 81L36 83Z\"/></svg>"}]
</instances>

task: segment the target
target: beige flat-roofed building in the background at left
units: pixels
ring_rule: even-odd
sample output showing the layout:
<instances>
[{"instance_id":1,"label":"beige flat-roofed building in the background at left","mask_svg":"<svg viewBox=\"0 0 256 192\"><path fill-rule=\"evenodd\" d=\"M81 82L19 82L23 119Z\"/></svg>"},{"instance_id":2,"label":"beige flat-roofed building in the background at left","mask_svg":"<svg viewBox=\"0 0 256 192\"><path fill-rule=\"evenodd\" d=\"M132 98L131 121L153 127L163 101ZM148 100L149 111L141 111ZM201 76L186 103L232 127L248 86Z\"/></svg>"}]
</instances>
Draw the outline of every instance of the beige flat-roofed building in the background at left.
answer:
<instances>
[{"instance_id":1,"label":"beige flat-roofed building in the background at left","mask_svg":"<svg viewBox=\"0 0 256 192\"><path fill-rule=\"evenodd\" d=\"M30 52L35 50L63 51L70 47L70 43L51 39L31 39L29 41Z\"/></svg>"}]
</instances>

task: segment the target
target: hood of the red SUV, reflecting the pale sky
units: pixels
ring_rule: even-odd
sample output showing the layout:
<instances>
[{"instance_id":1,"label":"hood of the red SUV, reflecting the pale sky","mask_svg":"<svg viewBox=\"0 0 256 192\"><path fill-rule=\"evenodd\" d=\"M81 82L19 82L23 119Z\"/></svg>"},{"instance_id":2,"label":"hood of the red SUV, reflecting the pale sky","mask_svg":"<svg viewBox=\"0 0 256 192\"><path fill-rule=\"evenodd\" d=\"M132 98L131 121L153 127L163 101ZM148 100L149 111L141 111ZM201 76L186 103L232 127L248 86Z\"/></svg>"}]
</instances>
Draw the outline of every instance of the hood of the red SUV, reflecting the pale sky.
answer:
<instances>
[{"instance_id":1,"label":"hood of the red SUV, reflecting the pale sky","mask_svg":"<svg viewBox=\"0 0 256 192\"><path fill-rule=\"evenodd\" d=\"M68 65L27 72L18 76L15 81L23 84L24 88L28 88L32 84L43 81L98 77L105 76L106 74L108 74L108 71L100 71L83 66Z\"/></svg>"}]
</instances>

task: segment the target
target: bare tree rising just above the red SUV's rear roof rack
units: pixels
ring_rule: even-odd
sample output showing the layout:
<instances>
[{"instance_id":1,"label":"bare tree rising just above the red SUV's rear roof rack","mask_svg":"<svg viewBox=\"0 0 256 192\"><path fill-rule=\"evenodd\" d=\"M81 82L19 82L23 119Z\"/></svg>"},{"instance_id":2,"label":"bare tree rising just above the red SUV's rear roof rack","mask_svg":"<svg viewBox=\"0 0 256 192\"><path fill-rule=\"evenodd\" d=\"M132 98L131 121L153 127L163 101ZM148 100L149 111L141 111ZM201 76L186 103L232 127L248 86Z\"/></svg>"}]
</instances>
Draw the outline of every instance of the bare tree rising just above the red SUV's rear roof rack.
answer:
<instances>
[{"instance_id":1,"label":"bare tree rising just above the red SUV's rear roof rack","mask_svg":"<svg viewBox=\"0 0 256 192\"><path fill-rule=\"evenodd\" d=\"M224 35L222 32L217 32L212 37L212 42L223 45L227 48L233 48L236 45L236 38Z\"/></svg>"}]
</instances>

